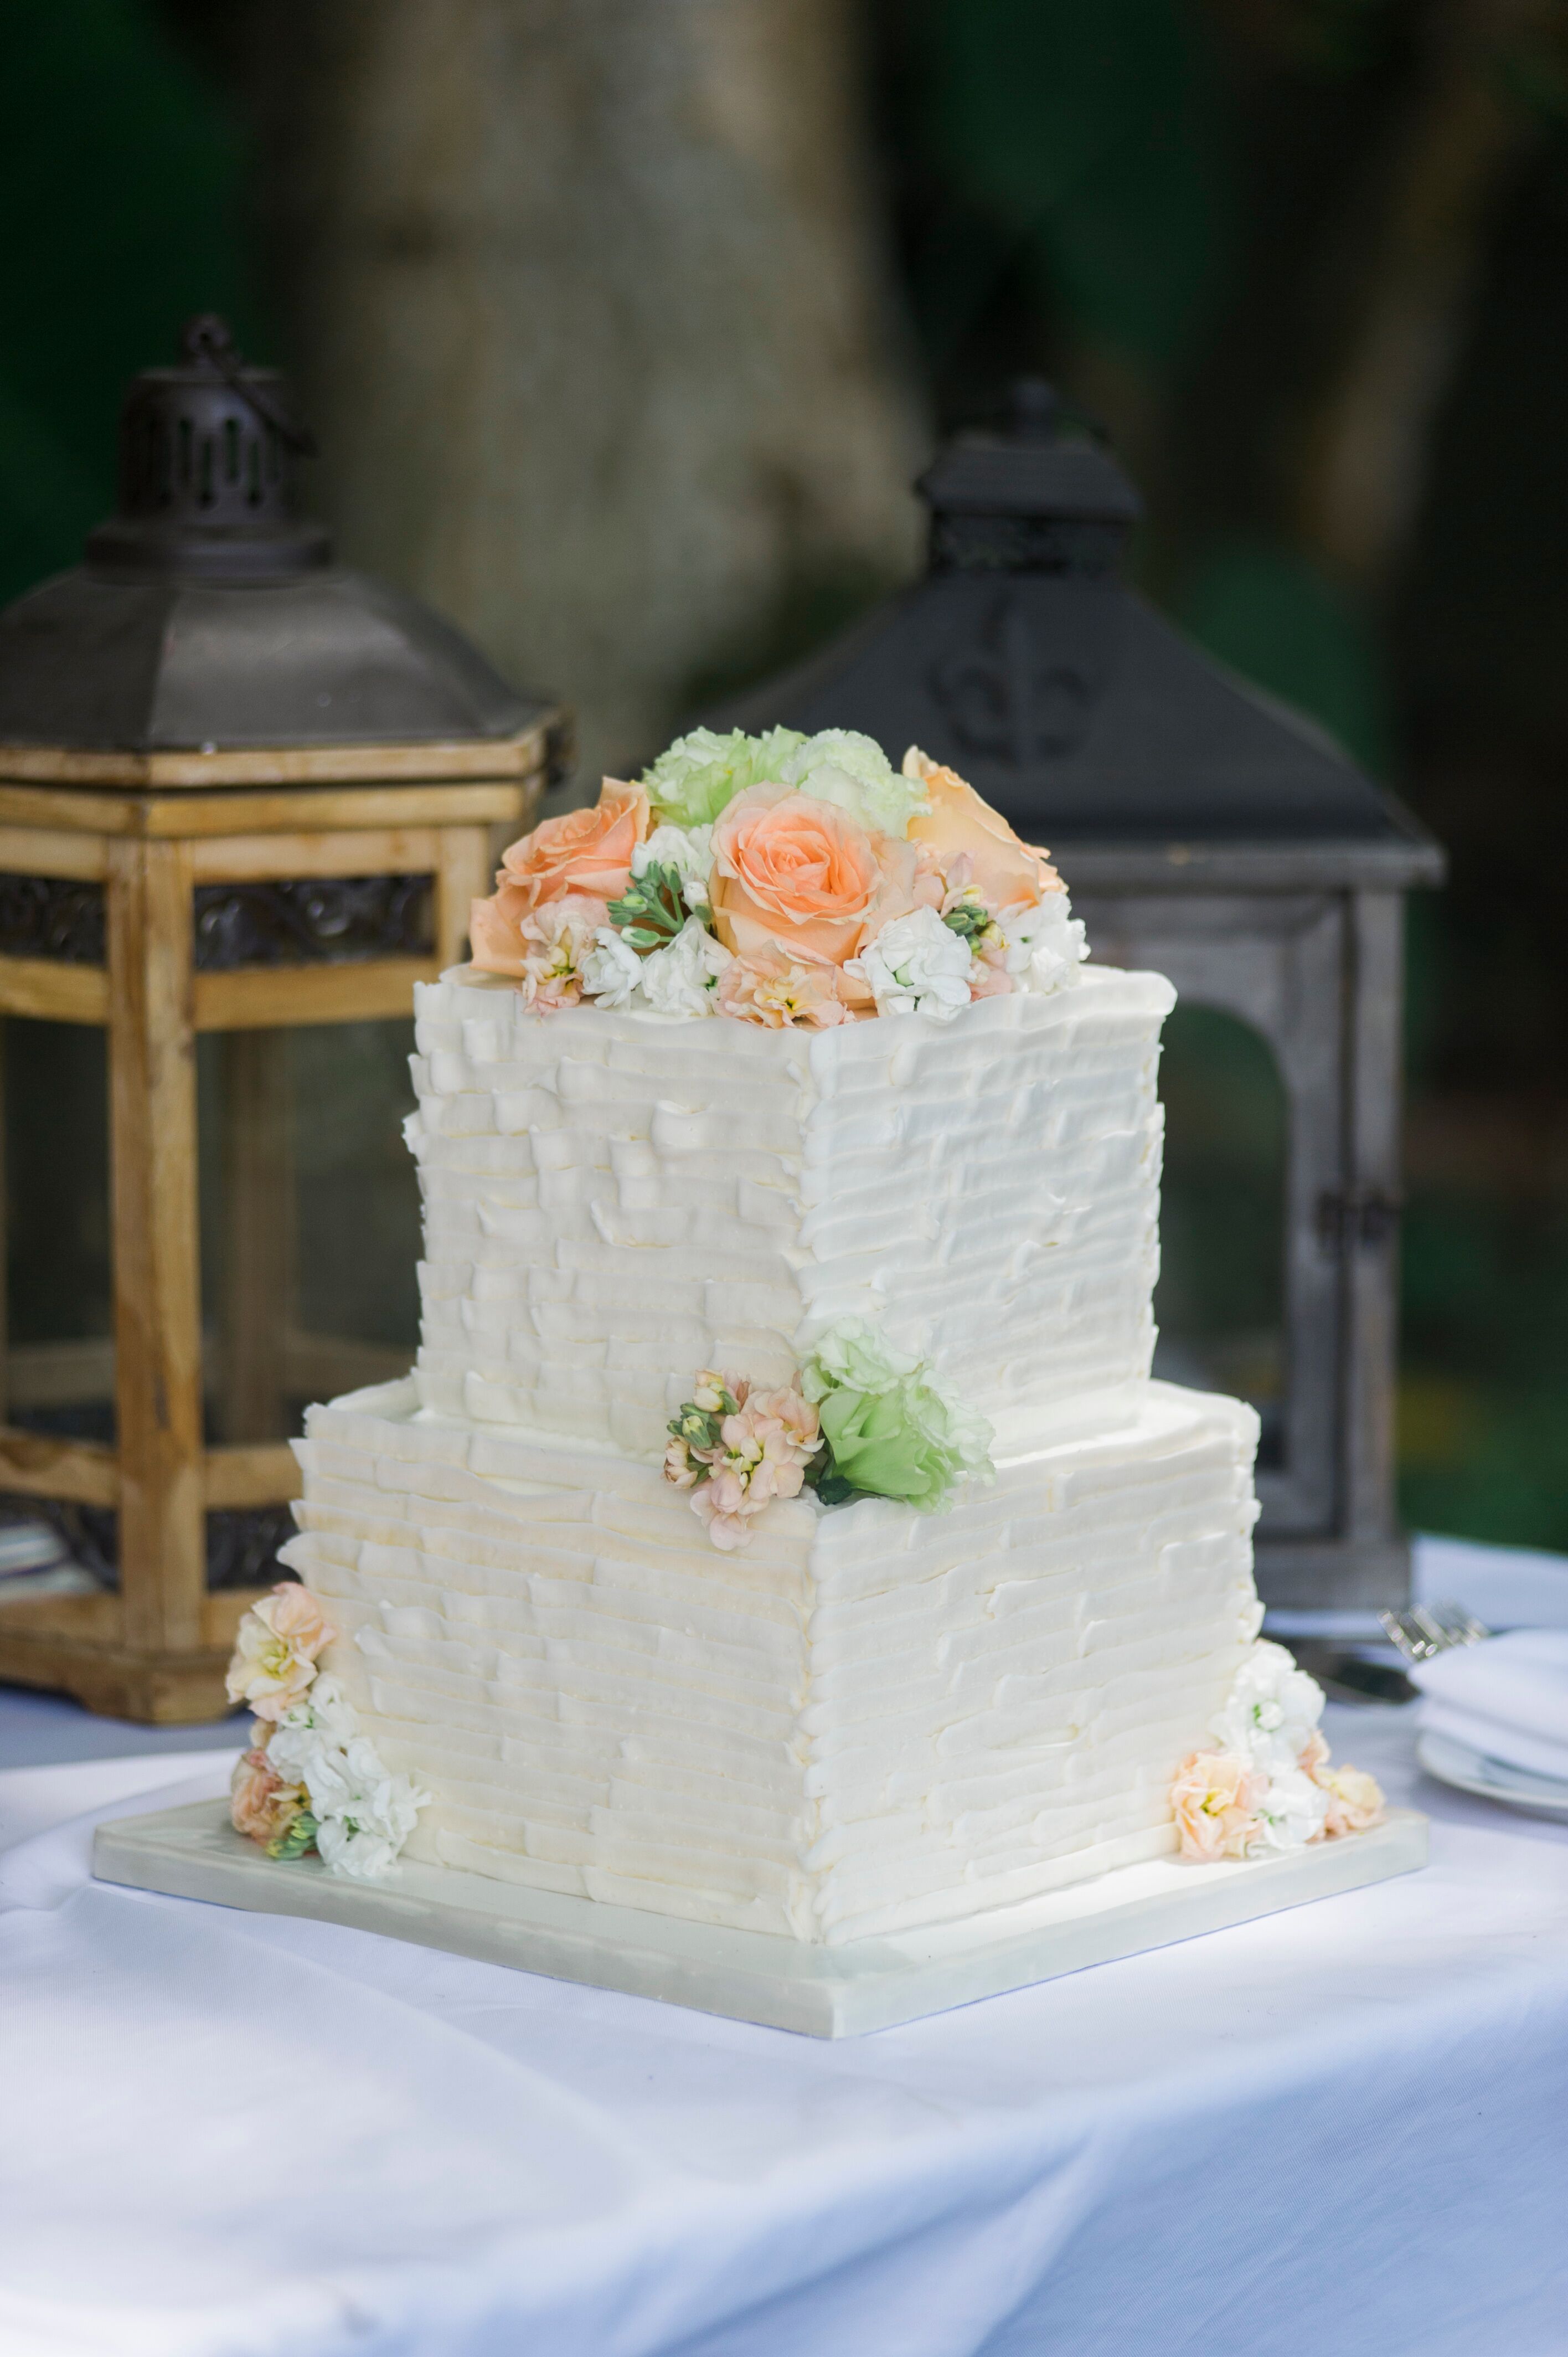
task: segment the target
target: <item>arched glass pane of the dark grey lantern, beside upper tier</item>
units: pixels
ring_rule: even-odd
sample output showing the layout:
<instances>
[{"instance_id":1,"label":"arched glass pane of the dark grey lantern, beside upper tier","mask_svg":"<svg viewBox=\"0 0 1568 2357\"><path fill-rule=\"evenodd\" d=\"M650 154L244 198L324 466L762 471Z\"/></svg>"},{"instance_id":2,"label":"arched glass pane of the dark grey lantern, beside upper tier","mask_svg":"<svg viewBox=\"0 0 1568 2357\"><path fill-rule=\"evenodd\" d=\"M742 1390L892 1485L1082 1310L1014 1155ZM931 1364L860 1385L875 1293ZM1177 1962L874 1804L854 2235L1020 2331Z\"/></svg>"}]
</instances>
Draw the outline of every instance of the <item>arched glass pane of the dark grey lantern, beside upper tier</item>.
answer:
<instances>
[{"instance_id":1,"label":"arched glass pane of the dark grey lantern, beside upper tier","mask_svg":"<svg viewBox=\"0 0 1568 2357\"><path fill-rule=\"evenodd\" d=\"M1250 1400L1285 1459L1285 1084L1236 1016L1177 1006L1160 1061L1165 1190L1155 1374Z\"/></svg>"}]
</instances>

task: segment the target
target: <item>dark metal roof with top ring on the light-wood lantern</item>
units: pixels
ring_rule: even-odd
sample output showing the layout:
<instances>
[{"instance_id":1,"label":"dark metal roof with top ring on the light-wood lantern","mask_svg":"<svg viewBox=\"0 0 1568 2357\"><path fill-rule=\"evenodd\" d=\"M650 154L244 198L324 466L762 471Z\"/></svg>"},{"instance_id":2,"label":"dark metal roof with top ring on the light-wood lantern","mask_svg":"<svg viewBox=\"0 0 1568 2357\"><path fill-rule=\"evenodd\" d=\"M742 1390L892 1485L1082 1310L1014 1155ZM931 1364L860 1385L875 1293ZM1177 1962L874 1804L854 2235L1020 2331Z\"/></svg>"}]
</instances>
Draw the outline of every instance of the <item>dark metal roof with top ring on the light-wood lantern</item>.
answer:
<instances>
[{"instance_id":1,"label":"dark metal roof with top ring on the light-wood lantern","mask_svg":"<svg viewBox=\"0 0 1568 2357\"><path fill-rule=\"evenodd\" d=\"M453 742L547 714L299 514L309 436L219 318L120 412L120 497L87 563L0 613L0 745L92 752Z\"/></svg>"}]
</instances>

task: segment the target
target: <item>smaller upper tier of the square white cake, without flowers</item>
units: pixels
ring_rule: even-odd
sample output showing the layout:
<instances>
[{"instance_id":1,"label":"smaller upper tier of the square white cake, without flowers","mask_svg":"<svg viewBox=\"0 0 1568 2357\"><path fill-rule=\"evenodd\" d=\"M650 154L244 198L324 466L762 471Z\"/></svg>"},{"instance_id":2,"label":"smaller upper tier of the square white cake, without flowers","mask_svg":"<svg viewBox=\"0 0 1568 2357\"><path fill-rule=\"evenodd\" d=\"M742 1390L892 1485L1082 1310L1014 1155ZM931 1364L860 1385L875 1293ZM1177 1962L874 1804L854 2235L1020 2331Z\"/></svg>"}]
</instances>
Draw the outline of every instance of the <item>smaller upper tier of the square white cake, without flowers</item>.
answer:
<instances>
[{"instance_id":1,"label":"smaller upper tier of the square white cake, without flowers","mask_svg":"<svg viewBox=\"0 0 1568 2357\"><path fill-rule=\"evenodd\" d=\"M422 985L424 1405L655 1454L698 1367L788 1381L875 1315L1002 1450L1103 1417L1153 1351L1172 1004L1089 966L806 1032Z\"/></svg>"}]
</instances>

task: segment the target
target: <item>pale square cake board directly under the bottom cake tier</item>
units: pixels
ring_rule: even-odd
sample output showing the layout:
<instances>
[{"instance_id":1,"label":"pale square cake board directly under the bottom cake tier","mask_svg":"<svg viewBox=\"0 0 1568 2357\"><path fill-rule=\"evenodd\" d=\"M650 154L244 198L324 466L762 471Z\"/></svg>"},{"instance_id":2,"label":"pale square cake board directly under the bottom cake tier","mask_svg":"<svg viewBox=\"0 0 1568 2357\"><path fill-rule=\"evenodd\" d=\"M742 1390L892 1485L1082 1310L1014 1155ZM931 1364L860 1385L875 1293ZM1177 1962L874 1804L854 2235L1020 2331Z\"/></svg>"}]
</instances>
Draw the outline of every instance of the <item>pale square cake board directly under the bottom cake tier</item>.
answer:
<instances>
[{"instance_id":1,"label":"pale square cake board directly under the bottom cake tier","mask_svg":"<svg viewBox=\"0 0 1568 2357\"><path fill-rule=\"evenodd\" d=\"M196 1801L97 1829L106 1883L217 1900L257 1914L351 1923L420 1947L509 1963L552 1980L658 1996L740 2022L856 2036L1148 1947L1226 1930L1304 1900L1358 1890L1427 1864L1427 1820L1394 1810L1370 1834L1285 1857L1214 1867L1155 1860L967 1923L806 1947L759 1930L681 1923L641 1907L521 1890L483 1874L403 1864L391 1883L354 1883L318 1857L281 1864L229 1824L226 1801Z\"/></svg>"}]
</instances>

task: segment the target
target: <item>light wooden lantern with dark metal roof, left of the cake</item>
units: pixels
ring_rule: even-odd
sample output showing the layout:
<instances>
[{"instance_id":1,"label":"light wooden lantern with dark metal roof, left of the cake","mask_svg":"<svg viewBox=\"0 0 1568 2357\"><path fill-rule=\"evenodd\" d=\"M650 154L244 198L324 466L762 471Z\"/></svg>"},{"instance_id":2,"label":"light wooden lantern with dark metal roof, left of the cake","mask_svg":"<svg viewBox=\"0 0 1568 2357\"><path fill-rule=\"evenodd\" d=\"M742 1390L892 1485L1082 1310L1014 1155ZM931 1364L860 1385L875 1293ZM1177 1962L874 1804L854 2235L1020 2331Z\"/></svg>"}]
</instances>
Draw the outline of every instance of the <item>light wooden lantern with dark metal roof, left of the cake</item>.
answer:
<instances>
[{"instance_id":1,"label":"light wooden lantern with dark metal roof, left of the cake","mask_svg":"<svg viewBox=\"0 0 1568 2357\"><path fill-rule=\"evenodd\" d=\"M0 1678L141 1721L224 1709L259 1589L210 1589L210 1523L295 1494L283 1402L384 1372L290 1315L283 1035L408 1016L413 983L467 955L559 721L330 563L295 514L297 445L278 379L196 323L184 365L130 391L120 514L85 568L0 615L0 1014L108 1037L116 1402L113 1442L2 1424L0 1490L113 1511L118 1556L116 1589L0 1603ZM226 1065L217 1369L198 1032ZM207 1445L212 1391L266 1438Z\"/></svg>"}]
</instances>

